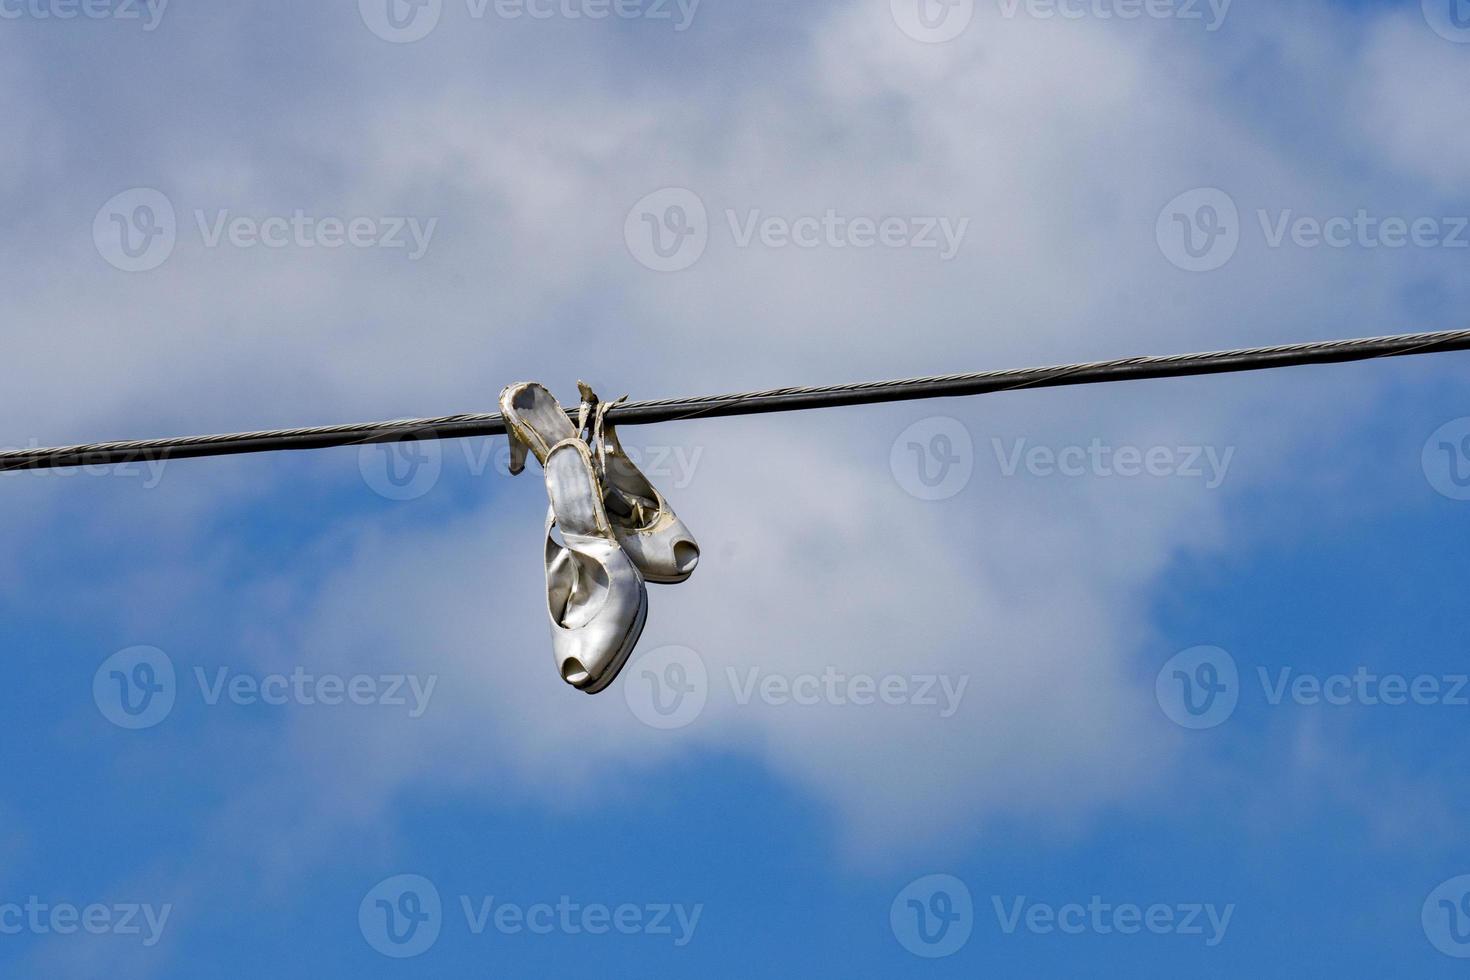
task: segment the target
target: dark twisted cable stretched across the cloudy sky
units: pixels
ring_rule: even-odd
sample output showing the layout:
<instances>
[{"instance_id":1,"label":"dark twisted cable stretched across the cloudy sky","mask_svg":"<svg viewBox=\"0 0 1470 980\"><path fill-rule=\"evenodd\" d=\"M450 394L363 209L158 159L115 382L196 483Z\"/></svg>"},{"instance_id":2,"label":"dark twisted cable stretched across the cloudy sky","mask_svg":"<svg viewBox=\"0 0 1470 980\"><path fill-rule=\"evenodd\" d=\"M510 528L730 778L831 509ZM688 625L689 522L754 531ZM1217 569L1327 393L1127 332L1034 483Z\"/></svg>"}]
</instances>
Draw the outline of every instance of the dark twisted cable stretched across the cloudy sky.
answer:
<instances>
[{"instance_id":1,"label":"dark twisted cable stretched across the cloudy sky","mask_svg":"<svg viewBox=\"0 0 1470 980\"><path fill-rule=\"evenodd\" d=\"M1466 350L1470 350L1470 331L1442 331L1438 334L1320 341L1313 344L1289 344L1285 347L1214 351L1208 354L1126 357L1086 364L1023 367L1019 370L992 370L973 375L910 378L907 381L876 381L822 388L776 388L734 395L632 401L610 410L607 417L617 425L653 425L685 419L722 419L772 411L806 411L808 408L870 406L888 401L985 395L1025 388L1061 388L1067 385L1097 385L1154 378L1227 375L1247 370L1299 367L1304 364L1339 364L1377 357L1444 354ZM463 414L445 416L442 419L400 419L397 422L369 422L312 429L269 429L265 432L234 432L228 435L198 435L171 439L97 442L93 445L0 453L0 472L188 460L213 455L240 455L244 453L328 450L344 445L403 442L407 439L465 439L504 435L504 432L506 423L498 414Z\"/></svg>"}]
</instances>

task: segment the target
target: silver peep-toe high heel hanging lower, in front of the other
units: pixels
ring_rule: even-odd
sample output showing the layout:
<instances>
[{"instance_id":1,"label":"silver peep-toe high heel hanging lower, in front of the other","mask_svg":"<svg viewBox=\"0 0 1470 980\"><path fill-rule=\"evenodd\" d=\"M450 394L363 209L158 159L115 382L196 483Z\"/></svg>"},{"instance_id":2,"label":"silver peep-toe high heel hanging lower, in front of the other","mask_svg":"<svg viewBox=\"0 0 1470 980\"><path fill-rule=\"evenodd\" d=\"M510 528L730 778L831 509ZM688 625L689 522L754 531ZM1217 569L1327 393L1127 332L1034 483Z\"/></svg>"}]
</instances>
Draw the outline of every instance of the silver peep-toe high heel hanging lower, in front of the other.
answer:
<instances>
[{"instance_id":1,"label":"silver peep-toe high heel hanging lower, in front of the other","mask_svg":"<svg viewBox=\"0 0 1470 980\"><path fill-rule=\"evenodd\" d=\"M598 693L617 679L642 635L648 591L607 519L592 453L551 392L512 385L501 392L501 411L512 444L523 447L519 469L525 450L545 467L547 613L557 671L578 691ZM514 454L512 461L516 469Z\"/></svg>"}]
</instances>

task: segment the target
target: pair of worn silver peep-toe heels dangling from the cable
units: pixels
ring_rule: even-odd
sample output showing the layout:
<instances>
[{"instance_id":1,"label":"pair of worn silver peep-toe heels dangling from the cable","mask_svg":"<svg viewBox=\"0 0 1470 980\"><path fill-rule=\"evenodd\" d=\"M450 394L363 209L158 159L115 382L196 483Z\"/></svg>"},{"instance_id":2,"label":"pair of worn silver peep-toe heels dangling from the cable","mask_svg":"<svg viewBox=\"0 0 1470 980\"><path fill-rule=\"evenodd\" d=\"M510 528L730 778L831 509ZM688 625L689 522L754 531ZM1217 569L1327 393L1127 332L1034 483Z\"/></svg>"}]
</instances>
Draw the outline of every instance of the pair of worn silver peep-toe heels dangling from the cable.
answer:
<instances>
[{"instance_id":1,"label":"pair of worn silver peep-toe heels dangling from the cable","mask_svg":"<svg viewBox=\"0 0 1470 980\"><path fill-rule=\"evenodd\" d=\"M642 635L644 583L686 580L700 547L607 423L617 403L578 386L576 425L532 382L500 392L500 411L510 433L510 472L525 469L526 453L545 470L547 613L557 670L578 691L598 693L617 679Z\"/></svg>"}]
</instances>

